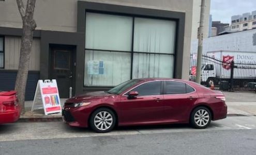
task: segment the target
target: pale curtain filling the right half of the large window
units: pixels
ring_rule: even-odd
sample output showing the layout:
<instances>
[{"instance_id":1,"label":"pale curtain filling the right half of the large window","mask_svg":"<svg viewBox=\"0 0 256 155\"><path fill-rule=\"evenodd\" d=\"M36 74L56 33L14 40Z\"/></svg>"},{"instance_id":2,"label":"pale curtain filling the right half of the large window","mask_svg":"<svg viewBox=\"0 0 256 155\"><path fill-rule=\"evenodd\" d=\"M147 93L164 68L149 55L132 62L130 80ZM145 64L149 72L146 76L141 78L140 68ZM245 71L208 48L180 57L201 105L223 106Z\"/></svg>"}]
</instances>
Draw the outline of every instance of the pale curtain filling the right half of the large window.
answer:
<instances>
[{"instance_id":1,"label":"pale curtain filling the right half of the large window","mask_svg":"<svg viewBox=\"0 0 256 155\"><path fill-rule=\"evenodd\" d=\"M132 77L173 77L176 22L134 19ZM161 54L165 53L165 54Z\"/></svg>"}]
</instances>

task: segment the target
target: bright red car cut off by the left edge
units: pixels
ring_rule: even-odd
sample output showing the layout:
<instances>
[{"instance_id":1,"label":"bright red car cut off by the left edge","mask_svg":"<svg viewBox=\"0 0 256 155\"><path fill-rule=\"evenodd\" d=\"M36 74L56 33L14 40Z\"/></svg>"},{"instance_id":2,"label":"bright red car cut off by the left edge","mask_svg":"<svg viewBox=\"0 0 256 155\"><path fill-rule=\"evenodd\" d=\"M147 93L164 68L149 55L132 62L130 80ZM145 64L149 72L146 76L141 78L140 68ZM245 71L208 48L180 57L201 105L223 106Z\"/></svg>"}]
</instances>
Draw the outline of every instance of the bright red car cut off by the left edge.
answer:
<instances>
[{"instance_id":1,"label":"bright red car cut off by the left edge","mask_svg":"<svg viewBox=\"0 0 256 155\"><path fill-rule=\"evenodd\" d=\"M20 118L21 107L16 94L14 90L0 91L0 124L15 122Z\"/></svg>"}]
</instances>

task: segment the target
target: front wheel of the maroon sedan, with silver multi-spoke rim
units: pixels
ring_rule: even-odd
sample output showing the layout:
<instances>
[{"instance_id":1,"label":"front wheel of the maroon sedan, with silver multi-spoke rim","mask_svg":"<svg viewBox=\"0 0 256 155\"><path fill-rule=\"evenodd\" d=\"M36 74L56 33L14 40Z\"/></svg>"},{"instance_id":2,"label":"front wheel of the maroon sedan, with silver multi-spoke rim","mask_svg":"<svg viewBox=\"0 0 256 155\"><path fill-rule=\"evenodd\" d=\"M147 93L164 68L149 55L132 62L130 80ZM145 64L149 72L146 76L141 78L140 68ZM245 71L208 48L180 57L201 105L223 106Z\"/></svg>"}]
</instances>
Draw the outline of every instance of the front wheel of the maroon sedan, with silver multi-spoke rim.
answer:
<instances>
[{"instance_id":1,"label":"front wheel of the maroon sedan, with silver multi-spoke rim","mask_svg":"<svg viewBox=\"0 0 256 155\"><path fill-rule=\"evenodd\" d=\"M101 107L94 111L89 119L90 127L98 133L106 133L113 130L116 117L109 108Z\"/></svg>"}]
</instances>

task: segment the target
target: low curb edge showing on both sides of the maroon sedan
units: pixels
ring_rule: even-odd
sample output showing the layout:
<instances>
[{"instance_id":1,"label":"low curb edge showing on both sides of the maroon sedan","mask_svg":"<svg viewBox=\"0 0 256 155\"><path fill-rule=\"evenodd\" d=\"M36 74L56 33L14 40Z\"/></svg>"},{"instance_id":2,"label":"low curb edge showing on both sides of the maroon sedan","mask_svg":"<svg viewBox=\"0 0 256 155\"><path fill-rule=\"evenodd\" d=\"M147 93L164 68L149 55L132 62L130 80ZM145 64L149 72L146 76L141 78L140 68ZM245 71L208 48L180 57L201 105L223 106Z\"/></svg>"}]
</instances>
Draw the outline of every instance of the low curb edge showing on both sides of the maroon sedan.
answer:
<instances>
[{"instance_id":1,"label":"low curb edge showing on both sides of the maroon sedan","mask_svg":"<svg viewBox=\"0 0 256 155\"><path fill-rule=\"evenodd\" d=\"M227 117L233 116L256 116L248 114L227 114ZM17 122L51 122L51 121L63 121L62 116L21 116Z\"/></svg>"}]
</instances>

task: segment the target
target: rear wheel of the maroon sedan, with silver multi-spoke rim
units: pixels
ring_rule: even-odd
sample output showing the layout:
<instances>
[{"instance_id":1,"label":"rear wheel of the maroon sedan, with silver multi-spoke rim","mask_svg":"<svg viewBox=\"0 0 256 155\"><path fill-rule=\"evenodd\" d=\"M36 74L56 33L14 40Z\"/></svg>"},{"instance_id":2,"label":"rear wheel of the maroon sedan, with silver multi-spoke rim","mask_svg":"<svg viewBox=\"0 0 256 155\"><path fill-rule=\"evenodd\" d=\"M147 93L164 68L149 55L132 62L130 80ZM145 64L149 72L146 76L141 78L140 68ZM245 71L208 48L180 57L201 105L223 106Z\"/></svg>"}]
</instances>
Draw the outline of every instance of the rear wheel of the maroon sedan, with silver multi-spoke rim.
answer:
<instances>
[{"instance_id":1,"label":"rear wheel of the maroon sedan, with silver multi-spoke rim","mask_svg":"<svg viewBox=\"0 0 256 155\"><path fill-rule=\"evenodd\" d=\"M190 124L196 129L205 129L209 126L212 120L212 114L209 109L204 106L194 108L190 115Z\"/></svg>"}]
</instances>

